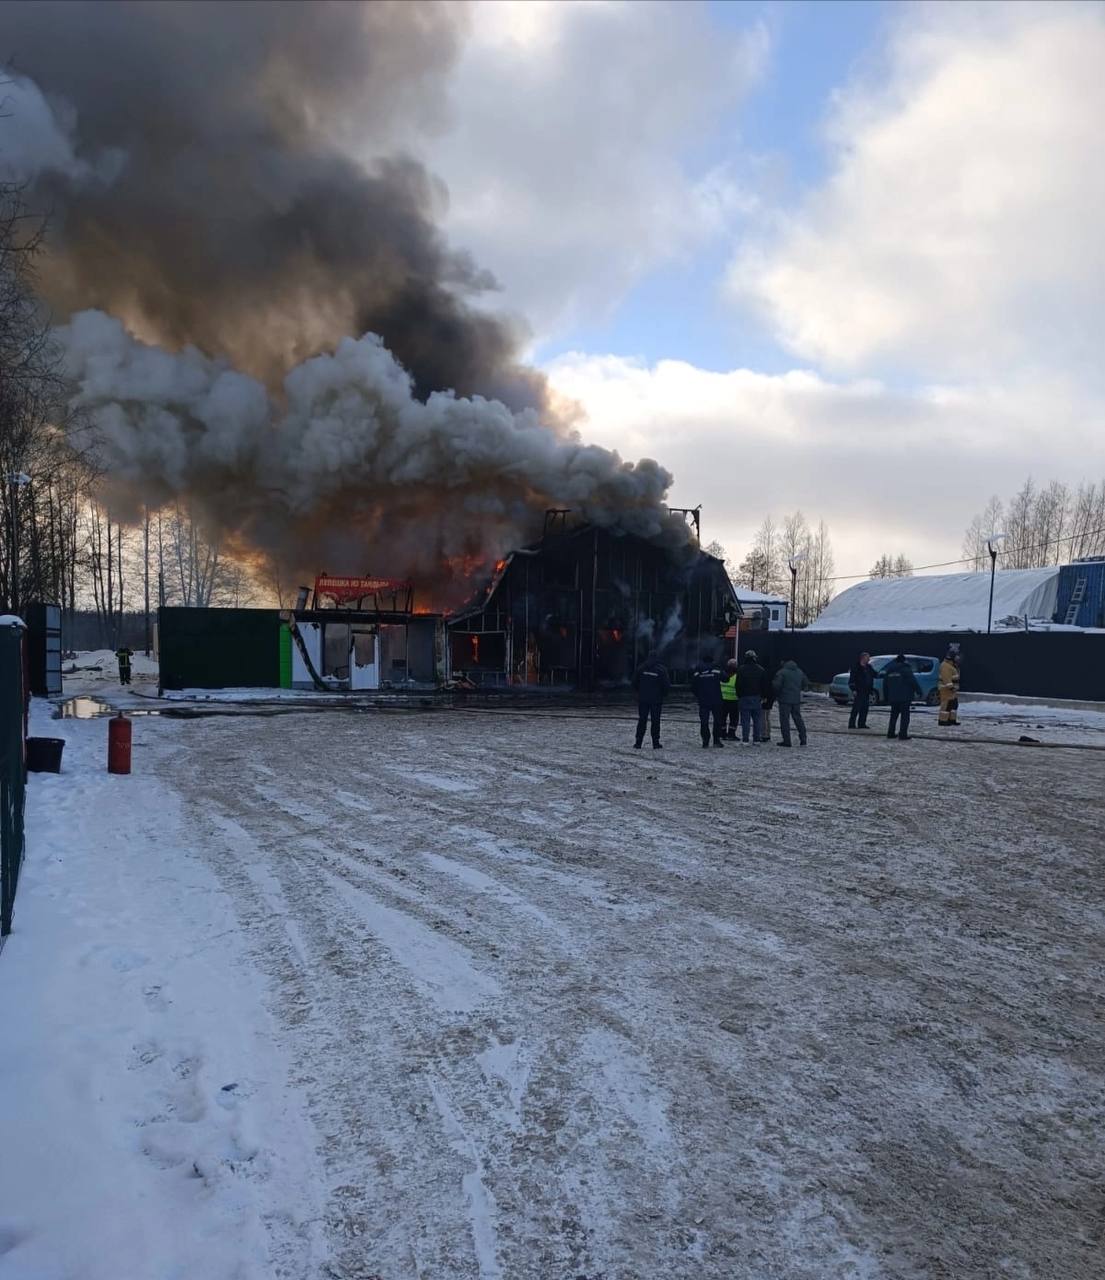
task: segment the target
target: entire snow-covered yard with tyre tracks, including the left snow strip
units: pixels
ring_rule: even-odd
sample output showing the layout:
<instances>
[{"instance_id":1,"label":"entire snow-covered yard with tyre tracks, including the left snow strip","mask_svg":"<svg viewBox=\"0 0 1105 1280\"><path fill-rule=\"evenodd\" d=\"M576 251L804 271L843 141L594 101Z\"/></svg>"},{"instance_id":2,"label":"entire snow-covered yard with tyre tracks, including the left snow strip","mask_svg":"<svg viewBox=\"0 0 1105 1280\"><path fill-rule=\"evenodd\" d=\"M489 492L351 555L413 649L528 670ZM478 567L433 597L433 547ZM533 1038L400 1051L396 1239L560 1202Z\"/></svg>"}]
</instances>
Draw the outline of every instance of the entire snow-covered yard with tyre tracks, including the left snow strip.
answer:
<instances>
[{"instance_id":1,"label":"entire snow-covered yard with tyre tracks, including the left snow strip","mask_svg":"<svg viewBox=\"0 0 1105 1280\"><path fill-rule=\"evenodd\" d=\"M1096 1280L1105 726L809 719L47 723L0 1276Z\"/></svg>"}]
</instances>

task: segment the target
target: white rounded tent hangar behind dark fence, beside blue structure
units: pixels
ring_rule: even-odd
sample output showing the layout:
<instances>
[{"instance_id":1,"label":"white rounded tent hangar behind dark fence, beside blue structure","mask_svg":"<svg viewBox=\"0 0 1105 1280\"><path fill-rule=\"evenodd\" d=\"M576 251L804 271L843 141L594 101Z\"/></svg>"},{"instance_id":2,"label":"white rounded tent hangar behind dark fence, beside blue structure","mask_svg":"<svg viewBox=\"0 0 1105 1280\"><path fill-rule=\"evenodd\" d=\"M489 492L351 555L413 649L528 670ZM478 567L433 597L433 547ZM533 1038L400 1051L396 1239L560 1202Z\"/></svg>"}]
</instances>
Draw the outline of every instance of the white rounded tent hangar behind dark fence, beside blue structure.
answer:
<instances>
[{"instance_id":1,"label":"white rounded tent hangar behind dark fence, beside blue structure","mask_svg":"<svg viewBox=\"0 0 1105 1280\"><path fill-rule=\"evenodd\" d=\"M994 628L1005 618L1055 614L1058 568L1006 568L994 576ZM811 631L985 631L988 573L873 577L832 600Z\"/></svg>"}]
</instances>

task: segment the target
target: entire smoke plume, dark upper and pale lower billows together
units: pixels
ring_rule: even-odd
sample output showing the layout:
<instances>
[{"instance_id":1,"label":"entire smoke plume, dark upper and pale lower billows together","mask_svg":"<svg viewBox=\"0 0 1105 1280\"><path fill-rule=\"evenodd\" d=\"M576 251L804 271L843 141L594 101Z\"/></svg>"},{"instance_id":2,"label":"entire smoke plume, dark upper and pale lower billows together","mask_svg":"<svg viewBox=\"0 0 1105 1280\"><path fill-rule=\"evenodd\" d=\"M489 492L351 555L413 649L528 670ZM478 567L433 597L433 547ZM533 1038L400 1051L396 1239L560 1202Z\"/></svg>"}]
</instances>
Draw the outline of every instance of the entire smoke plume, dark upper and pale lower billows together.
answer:
<instances>
[{"instance_id":1,"label":"entire smoke plume, dark upper and pale lower billows together","mask_svg":"<svg viewBox=\"0 0 1105 1280\"><path fill-rule=\"evenodd\" d=\"M548 504L663 527L670 476L563 430L519 325L474 305L494 282L439 232L444 191L397 150L447 123L465 22L420 0L0 3L0 125L23 122L0 163L52 211L44 292L125 324L65 335L120 507L188 498L297 572L494 558Z\"/></svg>"}]
</instances>

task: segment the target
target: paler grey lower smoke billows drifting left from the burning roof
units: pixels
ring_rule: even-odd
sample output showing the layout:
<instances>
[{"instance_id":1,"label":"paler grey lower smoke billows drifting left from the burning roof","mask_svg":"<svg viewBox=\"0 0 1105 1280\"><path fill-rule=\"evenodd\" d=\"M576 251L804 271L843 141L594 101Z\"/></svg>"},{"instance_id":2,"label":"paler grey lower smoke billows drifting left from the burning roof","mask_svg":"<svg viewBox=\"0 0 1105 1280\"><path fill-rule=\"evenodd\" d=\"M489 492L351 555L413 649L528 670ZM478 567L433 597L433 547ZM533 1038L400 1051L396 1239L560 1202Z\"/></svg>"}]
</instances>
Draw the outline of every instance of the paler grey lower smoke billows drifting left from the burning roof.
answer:
<instances>
[{"instance_id":1,"label":"paler grey lower smoke billows drifting left from the burning roof","mask_svg":"<svg viewBox=\"0 0 1105 1280\"><path fill-rule=\"evenodd\" d=\"M534 410L451 392L420 399L373 334L297 365L279 398L192 347L141 343L100 311L60 337L117 506L201 494L241 550L262 548L287 571L401 571L444 607L551 506L684 536L656 462L549 431Z\"/></svg>"}]
</instances>

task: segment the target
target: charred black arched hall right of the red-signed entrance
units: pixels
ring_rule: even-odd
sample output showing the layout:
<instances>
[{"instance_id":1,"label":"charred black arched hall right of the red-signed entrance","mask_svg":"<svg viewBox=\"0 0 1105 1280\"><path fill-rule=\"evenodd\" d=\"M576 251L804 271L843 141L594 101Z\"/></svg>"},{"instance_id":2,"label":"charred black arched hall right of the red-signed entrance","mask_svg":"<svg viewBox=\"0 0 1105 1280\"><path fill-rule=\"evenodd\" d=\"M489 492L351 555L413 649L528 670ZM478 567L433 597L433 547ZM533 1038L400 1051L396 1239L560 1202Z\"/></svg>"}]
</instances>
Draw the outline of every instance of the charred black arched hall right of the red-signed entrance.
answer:
<instances>
[{"instance_id":1,"label":"charred black arched hall right of the red-signed entrance","mask_svg":"<svg viewBox=\"0 0 1105 1280\"><path fill-rule=\"evenodd\" d=\"M697 524L697 512L679 515ZM501 559L446 620L447 675L597 690L626 684L654 650L680 684L703 652L721 655L740 612L725 564L697 540L672 545L552 511L540 541Z\"/></svg>"}]
</instances>

